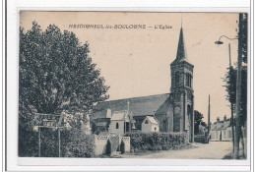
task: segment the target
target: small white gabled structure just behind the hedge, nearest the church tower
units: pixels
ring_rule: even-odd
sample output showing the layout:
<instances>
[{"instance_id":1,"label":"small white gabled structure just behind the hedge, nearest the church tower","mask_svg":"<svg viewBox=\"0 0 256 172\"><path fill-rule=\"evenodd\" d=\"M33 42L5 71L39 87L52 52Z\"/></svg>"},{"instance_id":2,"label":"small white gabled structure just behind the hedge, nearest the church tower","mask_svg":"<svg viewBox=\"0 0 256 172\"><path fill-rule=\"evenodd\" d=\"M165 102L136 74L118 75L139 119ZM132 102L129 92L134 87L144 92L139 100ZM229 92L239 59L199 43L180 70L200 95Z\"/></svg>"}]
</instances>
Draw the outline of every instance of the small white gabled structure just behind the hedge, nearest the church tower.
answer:
<instances>
[{"instance_id":1,"label":"small white gabled structure just behind the hedge, nearest the church tower","mask_svg":"<svg viewBox=\"0 0 256 172\"><path fill-rule=\"evenodd\" d=\"M155 117L146 116L142 122L142 133L160 132L160 123Z\"/></svg>"}]
</instances>

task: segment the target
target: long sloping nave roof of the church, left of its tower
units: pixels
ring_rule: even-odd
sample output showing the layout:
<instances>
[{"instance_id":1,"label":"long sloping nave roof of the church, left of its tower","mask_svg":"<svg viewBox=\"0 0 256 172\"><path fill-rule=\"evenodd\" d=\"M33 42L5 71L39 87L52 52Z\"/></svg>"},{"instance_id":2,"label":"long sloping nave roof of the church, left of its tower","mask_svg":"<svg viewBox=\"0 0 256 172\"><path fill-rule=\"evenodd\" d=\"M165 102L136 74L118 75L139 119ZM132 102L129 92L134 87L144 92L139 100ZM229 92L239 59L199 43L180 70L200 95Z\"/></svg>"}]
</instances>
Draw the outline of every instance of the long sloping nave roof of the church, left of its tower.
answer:
<instances>
[{"instance_id":1,"label":"long sloping nave roof of the church, left of its tower","mask_svg":"<svg viewBox=\"0 0 256 172\"><path fill-rule=\"evenodd\" d=\"M147 116L163 113L163 111L168 108L166 104L166 100L169 99L168 97L169 93L163 93L100 102L96 105L93 119L105 118L107 109L111 109L112 112L126 110L128 101L130 102L129 110L132 112L133 116Z\"/></svg>"}]
</instances>

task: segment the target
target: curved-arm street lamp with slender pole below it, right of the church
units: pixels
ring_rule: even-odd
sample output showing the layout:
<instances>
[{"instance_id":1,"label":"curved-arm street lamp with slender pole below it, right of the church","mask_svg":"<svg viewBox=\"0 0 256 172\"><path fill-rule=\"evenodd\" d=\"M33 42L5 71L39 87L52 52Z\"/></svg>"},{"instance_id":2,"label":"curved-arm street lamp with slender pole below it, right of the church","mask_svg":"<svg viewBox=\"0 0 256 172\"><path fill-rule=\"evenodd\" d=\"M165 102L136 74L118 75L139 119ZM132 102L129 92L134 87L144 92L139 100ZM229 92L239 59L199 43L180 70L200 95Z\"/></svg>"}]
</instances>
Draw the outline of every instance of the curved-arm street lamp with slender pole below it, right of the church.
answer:
<instances>
[{"instance_id":1,"label":"curved-arm street lamp with slender pole below it, right of the church","mask_svg":"<svg viewBox=\"0 0 256 172\"><path fill-rule=\"evenodd\" d=\"M227 37L226 35L222 35L222 36L220 36L220 38L219 38L219 40L218 41L216 41L215 42L215 44L218 44L218 45L221 45L221 44L224 44L224 42L223 41L221 41L221 39L222 39L222 37L225 37L225 38L227 38L227 39L229 39L229 40L235 40L235 39L238 39L238 38L229 38L229 37ZM228 43L228 56L229 56L229 80L231 79L231 54L230 54L230 43ZM237 85L237 84L236 84ZM236 101L237 101L237 99L236 99ZM237 102L236 102L237 103ZM234 122L234 120L233 120L233 103L232 102L230 102L230 106L231 106L231 125L232 125L232 144L233 144L233 149L232 149L232 151L234 152L234 126L233 126L233 122Z\"/></svg>"}]
</instances>

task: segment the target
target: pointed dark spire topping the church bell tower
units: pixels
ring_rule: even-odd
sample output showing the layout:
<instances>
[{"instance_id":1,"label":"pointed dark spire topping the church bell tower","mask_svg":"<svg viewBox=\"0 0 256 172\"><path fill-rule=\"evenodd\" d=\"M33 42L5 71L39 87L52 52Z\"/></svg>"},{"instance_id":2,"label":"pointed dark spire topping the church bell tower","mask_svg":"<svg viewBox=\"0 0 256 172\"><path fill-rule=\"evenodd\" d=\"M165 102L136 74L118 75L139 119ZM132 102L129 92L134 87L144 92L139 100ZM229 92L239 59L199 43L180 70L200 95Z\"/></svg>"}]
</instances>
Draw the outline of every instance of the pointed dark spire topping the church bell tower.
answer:
<instances>
[{"instance_id":1,"label":"pointed dark spire topping the church bell tower","mask_svg":"<svg viewBox=\"0 0 256 172\"><path fill-rule=\"evenodd\" d=\"M179 40L178 40L176 59L171 63L171 65L174 65L174 64L180 63L180 62L184 62L184 61L188 62L188 59L187 59L187 54L186 54L186 49L185 49L183 29L181 28L180 32L179 32Z\"/></svg>"}]
</instances>

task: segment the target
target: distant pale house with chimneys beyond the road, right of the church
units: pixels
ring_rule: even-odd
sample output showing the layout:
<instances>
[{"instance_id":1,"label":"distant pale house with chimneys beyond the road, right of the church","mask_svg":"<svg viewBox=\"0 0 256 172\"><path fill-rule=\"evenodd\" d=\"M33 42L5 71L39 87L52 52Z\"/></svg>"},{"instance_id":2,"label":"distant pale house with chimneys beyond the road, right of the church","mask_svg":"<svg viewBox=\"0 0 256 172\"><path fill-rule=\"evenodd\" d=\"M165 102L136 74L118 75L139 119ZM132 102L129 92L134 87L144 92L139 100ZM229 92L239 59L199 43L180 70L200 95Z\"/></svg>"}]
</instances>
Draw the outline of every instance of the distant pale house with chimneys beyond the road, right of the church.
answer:
<instances>
[{"instance_id":1,"label":"distant pale house with chimneys beyond the road, right of the church","mask_svg":"<svg viewBox=\"0 0 256 172\"><path fill-rule=\"evenodd\" d=\"M211 125L210 141L232 141L231 123L230 119L226 119L226 115L223 121L218 117L217 121Z\"/></svg>"}]
</instances>

